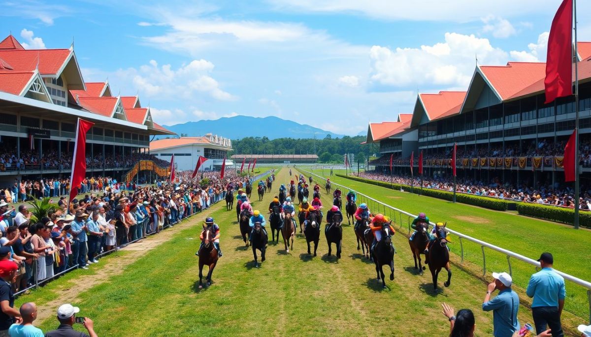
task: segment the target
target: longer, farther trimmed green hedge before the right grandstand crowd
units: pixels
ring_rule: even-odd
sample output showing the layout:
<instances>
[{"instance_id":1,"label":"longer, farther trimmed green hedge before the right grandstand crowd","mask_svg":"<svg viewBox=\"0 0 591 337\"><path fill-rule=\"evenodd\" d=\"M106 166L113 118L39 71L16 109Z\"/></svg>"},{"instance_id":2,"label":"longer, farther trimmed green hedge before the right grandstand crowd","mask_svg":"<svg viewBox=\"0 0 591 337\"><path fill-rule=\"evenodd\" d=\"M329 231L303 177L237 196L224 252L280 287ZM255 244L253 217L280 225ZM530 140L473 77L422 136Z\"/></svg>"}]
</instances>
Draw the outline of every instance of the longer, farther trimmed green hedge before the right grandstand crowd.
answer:
<instances>
[{"instance_id":1,"label":"longer, farther trimmed green hedge before the right grandstand crowd","mask_svg":"<svg viewBox=\"0 0 591 337\"><path fill-rule=\"evenodd\" d=\"M376 186L386 187L387 189L400 190L402 188L407 191L410 189L409 186L401 185L401 184L393 184L394 187L392 187L392 184L390 184L386 181L370 180L370 179L364 179L364 178L359 178L359 177L355 177L355 176L343 176L342 174L336 174L336 176L347 178L347 179L352 179L352 180L356 180L356 181L361 181L362 183L368 183L368 184L372 184L372 185L376 185ZM420 187L413 189L413 192L415 194L418 194L420 191L421 191ZM453 193L449 192L449 191L423 189L422 194L424 196L434 197L434 198L448 200L448 201L453 200ZM508 204L511 203L511 201L506 201L506 200L501 200L501 199L492 199L492 198L488 198L488 197L472 196L470 194L463 194L463 193L456 193L456 201L459 203L463 203L463 204L469 204L469 205L473 205L473 206L479 206L479 207L484 207L487 209L500 210L500 211L506 211Z\"/></svg>"}]
</instances>

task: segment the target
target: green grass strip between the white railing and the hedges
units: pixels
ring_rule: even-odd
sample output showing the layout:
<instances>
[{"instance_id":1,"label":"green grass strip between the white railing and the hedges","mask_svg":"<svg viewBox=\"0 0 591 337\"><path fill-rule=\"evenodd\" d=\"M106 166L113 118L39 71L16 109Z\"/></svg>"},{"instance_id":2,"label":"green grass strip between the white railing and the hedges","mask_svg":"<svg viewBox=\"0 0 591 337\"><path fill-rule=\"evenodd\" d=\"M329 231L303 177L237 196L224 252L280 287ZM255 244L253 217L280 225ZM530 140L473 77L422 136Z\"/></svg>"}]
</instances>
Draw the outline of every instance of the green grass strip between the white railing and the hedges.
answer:
<instances>
[{"instance_id":1,"label":"green grass strip between the white railing and the hedges","mask_svg":"<svg viewBox=\"0 0 591 337\"><path fill-rule=\"evenodd\" d=\"M328 172L324 170L324 173ZM322 170L314 170L314 173L322 175ZM344 174L344 171L338 173ZM588 261L591 260L590 230L574 230L571 226L519 216L511 212L454 204L446 200L386 189L337 176L331 177L331 180L406 212L425 212L432 222L447 222L451 229L532 259L537 259L541 252L552 252L557 269L584 280L591 280L591 268L588 267ZM377 207L375 203L369 205L374 209ZM400 225L400 217L397 217L396 221ZM407 217L403 216L402 227L405 233L408 232L407 221ZM451 245L452 252L460 254L459 240L457 237L452 237L453 239L455 240ZM481 247L467 241L463 242L463 246L465 260L478 265L482 275ZM489 249L485 250L486 267L489 272L508 270L506 256ZM531 273L535 272L534 267L514 259L511 260L511 266L514 282L525 288ZM585 289L567 282L566 310L584 320L589 318L589 302Z\"/></svg>"}]
</instances>

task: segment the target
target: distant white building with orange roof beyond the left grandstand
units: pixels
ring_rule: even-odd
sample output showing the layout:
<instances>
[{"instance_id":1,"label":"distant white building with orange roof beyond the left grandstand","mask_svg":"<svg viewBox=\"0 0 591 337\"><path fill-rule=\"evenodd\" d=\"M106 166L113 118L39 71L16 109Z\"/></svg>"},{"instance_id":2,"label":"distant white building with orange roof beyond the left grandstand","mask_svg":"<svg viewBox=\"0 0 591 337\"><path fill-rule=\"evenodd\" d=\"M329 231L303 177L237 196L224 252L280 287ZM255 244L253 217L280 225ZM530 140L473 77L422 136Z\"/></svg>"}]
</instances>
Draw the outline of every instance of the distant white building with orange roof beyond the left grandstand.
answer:
<instances>
[{"instance_id":1,"label":"distant white building with orange roof beyond the left grandstand","mask_svg":"<svg viewBox=\"0 0 591 337\"><path fill-rule=\"evenodd\" d=\"M161 160L170 161L174 154L177 170L194 170L199 156L207 158L201 166L203 170L219 170L222 168L223 158L228 156L228 151L232 151L232 141L210 133L203 137L181 137L150 142L150 153ZM233 164L230 158L226 159L226 167Z\"/></svg>"}]
</instances>

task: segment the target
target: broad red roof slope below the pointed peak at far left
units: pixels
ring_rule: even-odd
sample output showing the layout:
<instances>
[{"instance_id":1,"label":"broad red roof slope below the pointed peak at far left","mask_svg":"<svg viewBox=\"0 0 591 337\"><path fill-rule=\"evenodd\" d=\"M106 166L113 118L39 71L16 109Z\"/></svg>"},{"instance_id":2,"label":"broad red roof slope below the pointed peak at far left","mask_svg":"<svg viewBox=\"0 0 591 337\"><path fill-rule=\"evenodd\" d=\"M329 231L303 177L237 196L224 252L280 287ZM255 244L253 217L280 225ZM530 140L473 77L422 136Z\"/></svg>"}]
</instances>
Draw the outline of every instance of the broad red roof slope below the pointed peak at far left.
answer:
<instances>
[{"instance_id":1,"label":"broad red roof slope below the pointed peak at far left","mask_svg":"<svg viewBox=\"0 0 591 337\"><path fill-rule=\"evenodd\" d=\"M70 56L70 49L0 49L0 58L14 70L33 71L39 65L41 75L57 74Z\"/></svg>"}]
</instances>

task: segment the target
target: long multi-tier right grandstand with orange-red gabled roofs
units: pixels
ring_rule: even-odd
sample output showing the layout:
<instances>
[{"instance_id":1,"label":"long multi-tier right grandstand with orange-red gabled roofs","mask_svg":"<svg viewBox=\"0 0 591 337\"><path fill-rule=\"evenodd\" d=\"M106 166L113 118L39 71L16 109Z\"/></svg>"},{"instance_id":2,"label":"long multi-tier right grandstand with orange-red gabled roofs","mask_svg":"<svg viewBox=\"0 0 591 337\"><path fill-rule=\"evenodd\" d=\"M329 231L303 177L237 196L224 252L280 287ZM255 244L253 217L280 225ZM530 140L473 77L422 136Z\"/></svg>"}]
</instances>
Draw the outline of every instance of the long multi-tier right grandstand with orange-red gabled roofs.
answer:
<instances>
[{"instance_id":1,"label":"long multi-tier right grandstand with orange-red gabled roofs","mask_svg":"<svg viewBox=\"0 0 591 337\"><path fill-rule=\"evenodd\" d=\"M583 176L591 176L591 42L579 42L579 123ZM573 62L574 71L574 62ZM379 143L369 164L389 173L410 174L423 151L424 174L451 174L457 143L460 178L513 184L564 181L562 160L574 130L574 97L544 104L545 63L477 65L466 91L420 93L412 114L398 121L370 123L367 143ZM573 76L574 78L574 76Z\"/></svg>"}]
</instances>

